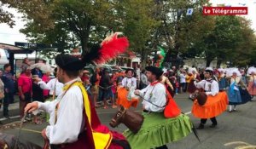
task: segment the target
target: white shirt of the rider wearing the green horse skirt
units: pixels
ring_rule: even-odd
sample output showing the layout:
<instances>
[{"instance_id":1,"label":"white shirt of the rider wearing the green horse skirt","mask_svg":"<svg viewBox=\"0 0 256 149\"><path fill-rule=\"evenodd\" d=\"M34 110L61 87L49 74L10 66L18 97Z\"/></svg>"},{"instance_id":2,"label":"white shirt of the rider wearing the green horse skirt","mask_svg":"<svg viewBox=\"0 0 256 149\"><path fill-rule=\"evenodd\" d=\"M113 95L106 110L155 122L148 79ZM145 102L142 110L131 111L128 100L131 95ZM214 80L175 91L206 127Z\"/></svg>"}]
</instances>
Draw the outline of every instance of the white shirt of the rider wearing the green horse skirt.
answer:
<instances>
[{"instance_id":1,"label":"white shirt of the rider wearing the green horse skirt","mask_svg":"<svg viewBox=\"0 0 256 149\"><path fill-rule=\"evenodd\" d=\"M152 95L151 98L150 94ZM143 100L145 110L148 110L149 112L164 111L165 107L163 106L166 106L166 87L162 83L157 83L154 86L149 84L145 89L140 90L140 96L145 99ZM157 106L154 106L146 100Z\"/></svg>"}]
</instances>

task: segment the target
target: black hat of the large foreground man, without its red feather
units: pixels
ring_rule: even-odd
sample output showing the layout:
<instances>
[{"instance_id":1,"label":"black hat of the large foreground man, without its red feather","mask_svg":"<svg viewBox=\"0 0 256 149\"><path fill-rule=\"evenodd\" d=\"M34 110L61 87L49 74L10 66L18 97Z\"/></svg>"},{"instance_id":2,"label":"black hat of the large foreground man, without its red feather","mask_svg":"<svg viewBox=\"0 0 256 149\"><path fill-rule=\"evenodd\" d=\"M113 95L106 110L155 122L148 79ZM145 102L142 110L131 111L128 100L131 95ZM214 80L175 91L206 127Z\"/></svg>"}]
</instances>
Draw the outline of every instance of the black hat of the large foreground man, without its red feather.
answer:
<instances>
[{"instance_id":1,"label":"black hat of the large foreground man, without its red feather","mask_svg":"<svg viewBox=\"0 0 256 149\"><path fill-rule=\"evenodd\" d=\"M84 62L70 54L58 54L55 63L65 71L79 71L84 68Z\"/></svg>"}]
</instances>

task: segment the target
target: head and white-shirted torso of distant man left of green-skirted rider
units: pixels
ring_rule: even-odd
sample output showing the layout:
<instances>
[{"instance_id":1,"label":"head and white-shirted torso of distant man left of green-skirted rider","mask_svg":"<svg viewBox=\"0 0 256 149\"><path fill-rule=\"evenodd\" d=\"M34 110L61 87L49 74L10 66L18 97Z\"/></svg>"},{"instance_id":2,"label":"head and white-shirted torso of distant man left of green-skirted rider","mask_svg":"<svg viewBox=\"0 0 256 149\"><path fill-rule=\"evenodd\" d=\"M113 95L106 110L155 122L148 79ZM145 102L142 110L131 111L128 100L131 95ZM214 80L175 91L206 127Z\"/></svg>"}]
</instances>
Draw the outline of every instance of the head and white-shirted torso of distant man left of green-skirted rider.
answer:
<instances>
[{"instance_id":1,"label":"head and white-shirted torso of distant man left of green-skirted rider","mask_svg":"<svg viewBox=\"0 0 256 149\"><path fill-rule=\"evenodd\" d=\"M133 76L133 69L125 71L126 77L122 80L122 86L126 89L137 89L137 78Z\"/></svg>"}]
</instances>

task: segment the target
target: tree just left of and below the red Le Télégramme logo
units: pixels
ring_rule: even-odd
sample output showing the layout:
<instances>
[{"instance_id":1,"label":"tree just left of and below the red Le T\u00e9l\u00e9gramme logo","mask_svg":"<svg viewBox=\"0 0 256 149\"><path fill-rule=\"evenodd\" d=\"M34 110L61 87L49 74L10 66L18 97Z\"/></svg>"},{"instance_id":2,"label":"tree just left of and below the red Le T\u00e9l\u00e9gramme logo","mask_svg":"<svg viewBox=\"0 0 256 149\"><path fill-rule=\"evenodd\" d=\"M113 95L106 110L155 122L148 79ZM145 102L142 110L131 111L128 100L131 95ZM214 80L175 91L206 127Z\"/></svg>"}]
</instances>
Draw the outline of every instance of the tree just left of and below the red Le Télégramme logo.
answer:
<instances>
[{"instance_id":1,"label":"tree just left of and below the red Le T\u00e9l\u00e9gramme logo","mask_svg":"<svg viewBox=\"0 0 256 149\"><path fill-rule=\"evenodd\" d=\"M157 16L161 22L157 37L160 38L160 44L165 45L166 47L163 47L167 49L165 61L177 66L178 55L193 57L190 54L197 53L189 49L194 50L195 43L203 37L202 27L212 27L212 25L208 26L209 21L201 13L201 7L208 1L201 0L193 3L191 1L155 0L155 2L160 9ZM192 15L186 15L188 9L194 9Z\"/></svg>"}]
</instances>

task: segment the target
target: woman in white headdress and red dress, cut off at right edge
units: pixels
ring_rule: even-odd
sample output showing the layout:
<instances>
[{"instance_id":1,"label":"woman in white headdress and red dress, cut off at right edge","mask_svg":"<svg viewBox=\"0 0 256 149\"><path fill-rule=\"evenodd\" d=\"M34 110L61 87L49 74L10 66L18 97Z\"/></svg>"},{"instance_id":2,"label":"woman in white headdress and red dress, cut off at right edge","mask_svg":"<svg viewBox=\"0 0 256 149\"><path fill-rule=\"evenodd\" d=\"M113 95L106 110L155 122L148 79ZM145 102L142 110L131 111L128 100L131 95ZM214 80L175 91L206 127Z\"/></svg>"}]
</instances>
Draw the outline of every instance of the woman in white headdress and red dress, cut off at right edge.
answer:
<instances>
[{"instance_id":1,"label":"woman in white headdress and red dress, cut off at right edge","mask_svg":"<svg viewBox=\"0 0 256 149\"><path fill-rule=\"evenodd\" d=\"M248 68L247 74L250 75L248 83L248 92L250 95L254 96L256 95L256 68Z\"/></svg>"}]
</instances>

